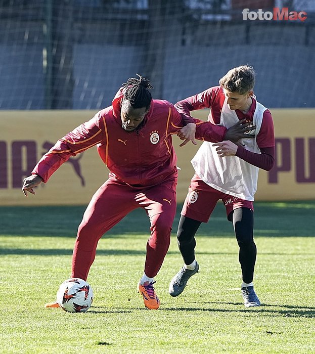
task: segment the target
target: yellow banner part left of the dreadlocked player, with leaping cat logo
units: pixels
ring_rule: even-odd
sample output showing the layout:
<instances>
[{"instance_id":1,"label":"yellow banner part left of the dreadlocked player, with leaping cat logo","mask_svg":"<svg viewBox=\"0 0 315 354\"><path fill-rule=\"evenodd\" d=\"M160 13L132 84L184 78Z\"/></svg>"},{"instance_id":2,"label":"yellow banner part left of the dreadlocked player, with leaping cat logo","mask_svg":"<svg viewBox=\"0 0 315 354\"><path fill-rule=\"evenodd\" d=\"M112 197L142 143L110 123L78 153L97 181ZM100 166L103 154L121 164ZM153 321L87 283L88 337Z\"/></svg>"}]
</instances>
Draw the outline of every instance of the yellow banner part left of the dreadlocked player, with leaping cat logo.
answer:
<instances>
[{"instance_id":1,"label":"yellow banner part left of the dreadlocked player, with leaping cat logo","mask_svg":"<svg viewBox=\"0 0 315 354\"><path fill-rule=\"evenodd\" d=\"M0 111L0 205L86 204L108 177L96 147L71 157L36 188L23 195L23 178L56 141L96 111Z\"/></svg>"}]
</instances>

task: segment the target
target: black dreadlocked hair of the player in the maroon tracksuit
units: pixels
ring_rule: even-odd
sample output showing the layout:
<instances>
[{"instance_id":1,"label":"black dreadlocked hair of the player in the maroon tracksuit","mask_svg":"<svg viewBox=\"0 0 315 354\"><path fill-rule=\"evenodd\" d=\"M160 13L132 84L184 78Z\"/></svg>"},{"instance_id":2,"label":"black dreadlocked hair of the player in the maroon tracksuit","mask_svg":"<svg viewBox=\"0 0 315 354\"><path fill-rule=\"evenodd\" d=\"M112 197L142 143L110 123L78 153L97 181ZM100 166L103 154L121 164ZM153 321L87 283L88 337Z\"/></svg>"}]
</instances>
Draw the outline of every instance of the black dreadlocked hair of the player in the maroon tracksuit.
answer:
<instances>
[{"instance_id":1,"label":"black dreadlocked hair of the player in the maroon tracksuit","mask_svg":"<svg viewBox=\"0 0 315 354\"><path fill-rule=\"evenodd\" d=\"M123 99L128 101L132 108L149 108L152 96L149 90L153 89L150 81L137 74L138 78L129 78L122 84L124 87Z\"/></svg>"}]
</instances>

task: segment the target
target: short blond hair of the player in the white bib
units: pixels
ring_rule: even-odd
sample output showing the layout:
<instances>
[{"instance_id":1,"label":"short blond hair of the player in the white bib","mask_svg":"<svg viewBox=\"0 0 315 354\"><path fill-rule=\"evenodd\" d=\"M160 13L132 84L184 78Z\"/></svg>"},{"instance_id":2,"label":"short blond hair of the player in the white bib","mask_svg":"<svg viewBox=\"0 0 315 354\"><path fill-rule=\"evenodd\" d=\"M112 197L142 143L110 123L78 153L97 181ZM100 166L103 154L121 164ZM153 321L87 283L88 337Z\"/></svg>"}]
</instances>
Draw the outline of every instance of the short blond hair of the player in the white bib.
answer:
<instances>
[{"instance_id":1,"label":"short blond hair of the player in the white bib","mask_svg":"<svg viewBox=\"0 0 315 354\"><path fill-rule=\"evenodd\" d=\"M252 66L241 65L229 70L220 81L220 86L229 92L237 92L240 95L253 90L255 85L255 71Z\"/></svg>"}]
</instances>

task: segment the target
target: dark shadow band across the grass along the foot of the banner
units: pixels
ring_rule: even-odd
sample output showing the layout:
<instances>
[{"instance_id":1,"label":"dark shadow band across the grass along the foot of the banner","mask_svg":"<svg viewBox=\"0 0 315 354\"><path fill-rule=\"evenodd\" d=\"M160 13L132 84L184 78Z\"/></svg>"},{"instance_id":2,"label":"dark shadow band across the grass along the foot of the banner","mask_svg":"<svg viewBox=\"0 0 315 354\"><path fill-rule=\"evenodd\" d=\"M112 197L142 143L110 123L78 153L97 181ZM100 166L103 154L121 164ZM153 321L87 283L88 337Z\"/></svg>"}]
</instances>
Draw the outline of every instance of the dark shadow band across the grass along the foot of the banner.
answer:
<instances>
[{"instance_id":1,"label":"dark shadow band across the grass along the foot of the banner","mask_svg":"<svg viewBox=\"0 0 315 354\"><path fill-rule=\"evenodd\" d=\"M173 232L177 230L182 205L177 206ZM255 202L255 236L315 236L315 201ZM75 237L85 206L0 206L0 232L4 236ZM146 212L139 208L124 217L106 235L149 235ZM202 224L197 236L233 236L233 226L226 218L226 210L218 202L209 223Z\"/></svg>"}]
</instances>

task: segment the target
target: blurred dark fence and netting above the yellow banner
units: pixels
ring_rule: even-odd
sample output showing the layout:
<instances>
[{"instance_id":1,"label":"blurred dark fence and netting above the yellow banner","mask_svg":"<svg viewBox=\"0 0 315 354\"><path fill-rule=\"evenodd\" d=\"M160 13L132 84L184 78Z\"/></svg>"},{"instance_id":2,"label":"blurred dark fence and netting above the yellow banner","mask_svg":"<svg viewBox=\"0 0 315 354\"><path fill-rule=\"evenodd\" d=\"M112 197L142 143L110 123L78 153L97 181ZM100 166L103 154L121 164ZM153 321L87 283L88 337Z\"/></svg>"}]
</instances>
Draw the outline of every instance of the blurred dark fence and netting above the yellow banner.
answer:
<instances>
[{"instance_id":1,"label":"blurred dark fence and netting above the yellow banner","mask_svg":"<svg viewBox=\"0 0 315 354\"><path fill-rule=\"evenodd\" d=\"M242 9L307 12L243 20ZM0 109L100 109L138 72L175 103L249 63L267 107L314 107L314 0L2 0Z\"/></svg>"}]
</instances>

